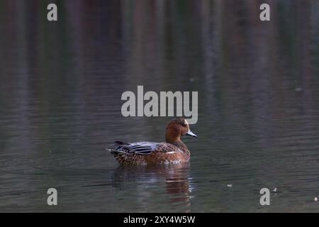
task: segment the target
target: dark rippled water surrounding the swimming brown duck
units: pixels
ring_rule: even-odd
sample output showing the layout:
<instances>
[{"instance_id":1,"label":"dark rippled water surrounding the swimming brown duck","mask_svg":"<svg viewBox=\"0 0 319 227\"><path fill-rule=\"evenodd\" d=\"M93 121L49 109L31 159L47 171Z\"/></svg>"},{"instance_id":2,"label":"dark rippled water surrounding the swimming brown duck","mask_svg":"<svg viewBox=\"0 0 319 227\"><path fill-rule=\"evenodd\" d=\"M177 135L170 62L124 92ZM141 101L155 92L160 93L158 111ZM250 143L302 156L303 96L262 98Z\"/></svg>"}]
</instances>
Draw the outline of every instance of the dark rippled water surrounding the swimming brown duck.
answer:
<instances>
[{"instance_id":1,"label":"dark rippled water surrounding the swimming brown duck","mask_svg":"<svg viewBox=\"0 0 319 227\"><path fill-rule=\"evenodd\" d=\"M256 2L63 1L48 23L45 1L1 1L0 211L318 211L319 4L260 22ZM138 85L198 91L189 165L106 153L164 140L171 118L121 115Z\"/></svg>"}]
</instances>

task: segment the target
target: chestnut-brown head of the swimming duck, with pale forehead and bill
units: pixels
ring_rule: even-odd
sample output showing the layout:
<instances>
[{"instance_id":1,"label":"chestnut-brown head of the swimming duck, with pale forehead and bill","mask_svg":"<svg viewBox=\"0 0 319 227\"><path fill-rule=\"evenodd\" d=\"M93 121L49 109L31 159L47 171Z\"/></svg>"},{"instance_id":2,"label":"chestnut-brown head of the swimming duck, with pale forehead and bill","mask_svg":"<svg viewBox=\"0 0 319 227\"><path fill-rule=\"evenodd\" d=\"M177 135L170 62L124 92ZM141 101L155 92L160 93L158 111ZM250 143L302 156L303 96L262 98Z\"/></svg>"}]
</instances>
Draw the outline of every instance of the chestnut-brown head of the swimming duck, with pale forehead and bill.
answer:
<instances>
[{"instance_id":1,"label":"chestnut-brown head of the swimming duck, with pale forehead and bill","mask_svg":"<svg viewBox=\"0 0 319 227\"><path fill-rule=\"evenodd\" d=\"M197 137L189 129L189 123L184 118L175 118L169 122L165 131L165 140L167 143L181 142L181 136L191 135Z\"/></svg>"}]
</instances>

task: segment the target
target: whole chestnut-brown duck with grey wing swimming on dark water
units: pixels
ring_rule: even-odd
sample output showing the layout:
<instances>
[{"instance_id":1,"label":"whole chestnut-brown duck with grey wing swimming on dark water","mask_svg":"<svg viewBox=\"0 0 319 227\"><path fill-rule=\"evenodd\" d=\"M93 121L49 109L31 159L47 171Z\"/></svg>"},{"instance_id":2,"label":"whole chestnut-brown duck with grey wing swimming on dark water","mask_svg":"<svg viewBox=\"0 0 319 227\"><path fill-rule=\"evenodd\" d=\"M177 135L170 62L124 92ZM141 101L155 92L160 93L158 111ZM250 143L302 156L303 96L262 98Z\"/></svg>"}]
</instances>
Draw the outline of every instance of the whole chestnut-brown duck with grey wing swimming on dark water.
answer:
<instances>
[{"instance_id":1,"label":"whole chestnut-brown duck with grey wing swimming on dark water","mask_svg":"<svg viewBox=\"0 0 319 227\"><path fill-rule=\"evenodd\" d=\"M190 152L181 137L197 137L185 118L169 121L165 130L165 142L125 143L115 141L116 148L106 148L120 165L162 165L189 162Z\"/></svg>"}]
</instances>

